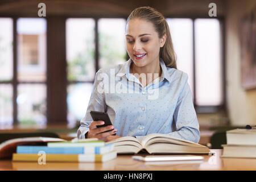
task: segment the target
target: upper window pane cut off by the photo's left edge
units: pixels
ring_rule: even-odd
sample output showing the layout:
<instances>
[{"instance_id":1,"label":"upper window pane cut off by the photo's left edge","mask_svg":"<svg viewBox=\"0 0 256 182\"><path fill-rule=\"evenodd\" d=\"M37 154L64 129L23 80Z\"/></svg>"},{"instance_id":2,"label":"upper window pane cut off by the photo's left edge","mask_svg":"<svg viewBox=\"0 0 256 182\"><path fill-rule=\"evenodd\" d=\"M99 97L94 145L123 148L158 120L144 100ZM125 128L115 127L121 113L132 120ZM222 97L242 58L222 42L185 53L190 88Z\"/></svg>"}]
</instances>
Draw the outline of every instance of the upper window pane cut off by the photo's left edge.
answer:
<instances>
[{"instance_id":1,"label":"upper window pane cut off by the photo's left edge","mask_svg":"<svg viewBox=\"0 0 256 182\"><path fill-rule=\"evenodd\" d=\"M0 18L0 80L13 78L13 19Z\"/></svg>"}]
</instances>

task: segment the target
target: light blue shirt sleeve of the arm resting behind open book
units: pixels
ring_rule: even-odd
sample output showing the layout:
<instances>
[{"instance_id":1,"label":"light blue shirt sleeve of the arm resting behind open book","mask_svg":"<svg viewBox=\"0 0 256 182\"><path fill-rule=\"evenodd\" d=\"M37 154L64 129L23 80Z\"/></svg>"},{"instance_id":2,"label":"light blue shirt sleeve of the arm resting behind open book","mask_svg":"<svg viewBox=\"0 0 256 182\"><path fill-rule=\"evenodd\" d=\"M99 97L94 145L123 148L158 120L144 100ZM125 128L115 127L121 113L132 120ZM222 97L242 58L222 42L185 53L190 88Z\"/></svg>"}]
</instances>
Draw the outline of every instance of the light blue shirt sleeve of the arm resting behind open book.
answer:
<instances>
[{"instance_id":1,"label":"light blue shirt sleeve of the arm resting behind open book","mask_svg":"<svg viewBox=\"0 0 256 182\"><path fill-rule=\"evenodd\" d=\"M199 123L188 85L188 75L183 72L182 76L181 80L183 81L181 81L181 85L183 86L173 115L176 131L166 135L198 143L200 140ZM143 137L145 136L136 136L140 141Z\"/></svg>"}]
</instances>

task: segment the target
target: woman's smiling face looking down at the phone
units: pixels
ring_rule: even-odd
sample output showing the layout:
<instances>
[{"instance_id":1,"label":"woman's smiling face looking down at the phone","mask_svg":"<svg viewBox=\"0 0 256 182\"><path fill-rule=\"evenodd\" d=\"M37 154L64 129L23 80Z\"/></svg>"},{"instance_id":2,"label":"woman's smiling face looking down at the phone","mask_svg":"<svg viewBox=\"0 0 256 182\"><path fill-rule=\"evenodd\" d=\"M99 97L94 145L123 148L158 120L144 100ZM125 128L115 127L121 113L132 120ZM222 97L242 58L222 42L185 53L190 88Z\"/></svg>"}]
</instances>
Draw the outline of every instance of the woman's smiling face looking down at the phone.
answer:
<instances>
[{"instance_id":1,"label":"woman's smiling face looking down at the phone","mask_svg":"<svg viewBox=\"0 0 256 182\"><path fill-rule=\"evenodd\" d=\"M126 25L126 50L137 67L159 64L160 47L165 41L166 35L160 39L151 22L134 18Z\"/></svg>"}]
</instances>

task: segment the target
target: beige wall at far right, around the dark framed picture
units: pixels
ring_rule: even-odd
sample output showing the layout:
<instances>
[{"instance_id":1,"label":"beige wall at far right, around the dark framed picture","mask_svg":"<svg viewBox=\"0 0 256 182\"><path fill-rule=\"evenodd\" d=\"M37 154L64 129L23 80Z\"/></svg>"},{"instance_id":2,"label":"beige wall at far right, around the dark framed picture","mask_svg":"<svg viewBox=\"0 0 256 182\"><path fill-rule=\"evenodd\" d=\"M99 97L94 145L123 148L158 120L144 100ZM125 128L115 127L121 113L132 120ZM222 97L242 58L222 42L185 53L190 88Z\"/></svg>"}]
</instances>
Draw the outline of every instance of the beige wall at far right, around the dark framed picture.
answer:
<instances>
[{"instance_id":1,"label":"beige wall at far right, around the dark framed picture","mask_svg":"<svg viewBox=\"0 0 256 182\"><path fill-rule=\"evenodd\" d=\"M255 0L229 0L226 13L226 90L232 125L256 125L256 89L241 87L241 59L238 23L256 6Z\"/></svg>"}]
</instances>

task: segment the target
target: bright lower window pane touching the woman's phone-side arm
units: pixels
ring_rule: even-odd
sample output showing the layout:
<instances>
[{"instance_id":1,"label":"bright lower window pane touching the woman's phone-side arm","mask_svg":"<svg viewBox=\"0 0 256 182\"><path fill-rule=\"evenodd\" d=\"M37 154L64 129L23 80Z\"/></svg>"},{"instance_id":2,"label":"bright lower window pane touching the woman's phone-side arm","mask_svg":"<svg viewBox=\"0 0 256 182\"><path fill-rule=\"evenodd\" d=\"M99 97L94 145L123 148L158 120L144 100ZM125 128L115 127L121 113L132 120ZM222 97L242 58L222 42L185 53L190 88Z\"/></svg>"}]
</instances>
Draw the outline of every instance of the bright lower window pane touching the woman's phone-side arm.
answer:
<instances>
[{"instance_id":1,"label":"bright lower window pane touching the woman's phone-side arm","mask_svg":"<svg viewBox=\"0 0 256 182\"><path fill-rule=\"evenodd\" d=\"M68 86L68 122L70 125L79 122L86 113L92 93L93 84L79 83Z\"/></svg>"}]
</instances>

